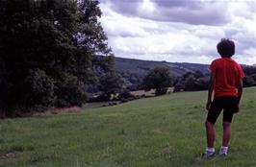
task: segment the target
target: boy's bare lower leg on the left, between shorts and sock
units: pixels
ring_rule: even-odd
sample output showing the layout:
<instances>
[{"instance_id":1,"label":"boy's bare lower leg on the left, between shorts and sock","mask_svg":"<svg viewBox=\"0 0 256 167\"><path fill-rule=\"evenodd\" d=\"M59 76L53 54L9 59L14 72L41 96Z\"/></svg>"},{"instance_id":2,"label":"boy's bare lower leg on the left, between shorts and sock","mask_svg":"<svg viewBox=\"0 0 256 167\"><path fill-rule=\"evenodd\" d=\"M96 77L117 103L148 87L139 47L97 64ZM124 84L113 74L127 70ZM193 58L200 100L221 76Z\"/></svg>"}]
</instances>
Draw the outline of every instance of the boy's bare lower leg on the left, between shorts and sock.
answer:
<instances>
[{"instance_id":1,"label":"boy's bare lower leg on the left, between shorts and sock","mask_svg":"<svg viewBox=\"0 0 256 167\"><path fill-rule=\"evenodd\" d=\"M214 148L216 140L215 125L209 121L205 122L206 136L207 136L207 147Z\"/></svg>"}]
</instances>

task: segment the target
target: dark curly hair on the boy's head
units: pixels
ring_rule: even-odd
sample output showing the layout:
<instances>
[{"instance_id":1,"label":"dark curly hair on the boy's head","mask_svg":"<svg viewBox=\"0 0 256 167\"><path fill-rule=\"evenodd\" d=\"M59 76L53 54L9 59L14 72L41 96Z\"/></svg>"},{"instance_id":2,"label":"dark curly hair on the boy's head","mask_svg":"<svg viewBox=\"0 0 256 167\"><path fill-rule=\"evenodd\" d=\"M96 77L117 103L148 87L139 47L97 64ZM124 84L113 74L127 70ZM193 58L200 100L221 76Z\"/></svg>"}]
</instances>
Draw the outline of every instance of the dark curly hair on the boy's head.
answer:
<instances>
[{"instance_id":1,"label":"dark curly hair on the boy's head","mask_svg":"<svg viewBox=\"0 0 256 167\"><path fill-rule=\"evenodd\" d=\"M217 45L218 54L223 58L231 58L235 54L235 43L228 38L221 38Z\"/></svg>"}]
</instances>

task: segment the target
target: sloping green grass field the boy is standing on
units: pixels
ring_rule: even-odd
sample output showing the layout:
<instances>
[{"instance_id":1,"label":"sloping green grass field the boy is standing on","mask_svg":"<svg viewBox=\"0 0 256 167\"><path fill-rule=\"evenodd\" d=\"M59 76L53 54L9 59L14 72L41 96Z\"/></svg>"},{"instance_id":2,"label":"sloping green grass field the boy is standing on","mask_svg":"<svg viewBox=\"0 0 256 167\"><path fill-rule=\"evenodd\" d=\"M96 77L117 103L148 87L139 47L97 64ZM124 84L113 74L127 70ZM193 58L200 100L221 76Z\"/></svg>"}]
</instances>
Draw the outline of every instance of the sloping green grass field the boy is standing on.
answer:
<instances>
[{"instance_id":1,"label":"sloping green grass field the boy is standing on","mask_svg":"<svg viewBox=\"0 0 256 167\"><path fill-rule=\"evenodd\" d=\"M1 167L256 166L256 87L245 88L227 157L201 158L207 93L182 92L78 114L0 120ZM217 122L218 149L221 118Z\"/></svg>"}]
</instances>

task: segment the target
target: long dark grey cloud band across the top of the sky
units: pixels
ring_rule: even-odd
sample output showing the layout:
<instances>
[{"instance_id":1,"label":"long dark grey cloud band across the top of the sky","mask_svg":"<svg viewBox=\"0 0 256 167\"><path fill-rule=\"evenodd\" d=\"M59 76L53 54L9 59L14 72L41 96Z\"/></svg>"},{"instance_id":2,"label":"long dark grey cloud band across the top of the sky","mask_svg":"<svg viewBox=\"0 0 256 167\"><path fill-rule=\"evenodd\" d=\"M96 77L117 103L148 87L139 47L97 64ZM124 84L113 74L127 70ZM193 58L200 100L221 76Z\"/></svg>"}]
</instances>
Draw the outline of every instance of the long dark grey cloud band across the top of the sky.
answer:
<instances>
[{"instance_id":1,"label":"long dark grey cloud band across the top of the sky","mask_svg":"<svg viewBox=\"0 0 256 167\"><path fill-rule=\"evenodd\" d=\"M226 3L218 3L216 8L217 3L214 2L151 0L150 2L157 10L148 13L140 9L143 0L101 0L101 2L112 4L115 12L156 21L184 22L194 25L221 25L228 21Z\"/></svg>"}]
</instances>

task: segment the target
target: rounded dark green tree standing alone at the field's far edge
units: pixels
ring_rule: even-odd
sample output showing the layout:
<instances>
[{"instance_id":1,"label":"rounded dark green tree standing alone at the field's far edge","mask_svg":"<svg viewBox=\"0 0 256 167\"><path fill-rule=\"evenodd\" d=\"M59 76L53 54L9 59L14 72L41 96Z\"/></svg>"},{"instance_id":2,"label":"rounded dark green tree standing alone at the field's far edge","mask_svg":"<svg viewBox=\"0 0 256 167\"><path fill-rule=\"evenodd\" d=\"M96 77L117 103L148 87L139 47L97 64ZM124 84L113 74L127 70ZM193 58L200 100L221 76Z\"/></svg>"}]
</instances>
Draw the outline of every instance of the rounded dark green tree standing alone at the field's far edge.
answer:
<instances>
[{"instance_id":1,"label":"rounded dark green tree standing alone at the field's far edge","mask_svg":"<svg viewBox=\"0 0 256 167\"><path fill-rule=\"evenodd\" d=\"M156 67L147 72L142 82L145 90L156 89L156 95L166 94L167 87L171 86L171 76L166 67Z\"/></svg>"}]
</instances>

